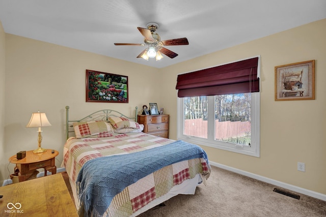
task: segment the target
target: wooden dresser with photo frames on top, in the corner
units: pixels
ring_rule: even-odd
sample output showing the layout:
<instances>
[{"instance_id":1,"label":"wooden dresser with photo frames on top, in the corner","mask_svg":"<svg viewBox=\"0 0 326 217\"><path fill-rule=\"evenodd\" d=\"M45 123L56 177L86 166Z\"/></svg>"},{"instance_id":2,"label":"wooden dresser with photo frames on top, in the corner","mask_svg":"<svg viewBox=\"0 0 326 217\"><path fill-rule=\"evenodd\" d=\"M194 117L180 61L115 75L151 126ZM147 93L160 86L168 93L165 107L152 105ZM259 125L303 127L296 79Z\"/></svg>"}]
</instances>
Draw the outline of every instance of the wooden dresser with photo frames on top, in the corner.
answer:
<instances>
[{"instance_id":1,"label":"wooden dresser with photo frames on top, in the corner","mask_svg":"<svg viewBox=\"0 0 326 217\"><path fill-rule=\"evenodd\" d=\"M144 125L144 133L163 138L169 138L169 119L168 114L138 115L138 122Z\"/></svg>"}]
</instances>

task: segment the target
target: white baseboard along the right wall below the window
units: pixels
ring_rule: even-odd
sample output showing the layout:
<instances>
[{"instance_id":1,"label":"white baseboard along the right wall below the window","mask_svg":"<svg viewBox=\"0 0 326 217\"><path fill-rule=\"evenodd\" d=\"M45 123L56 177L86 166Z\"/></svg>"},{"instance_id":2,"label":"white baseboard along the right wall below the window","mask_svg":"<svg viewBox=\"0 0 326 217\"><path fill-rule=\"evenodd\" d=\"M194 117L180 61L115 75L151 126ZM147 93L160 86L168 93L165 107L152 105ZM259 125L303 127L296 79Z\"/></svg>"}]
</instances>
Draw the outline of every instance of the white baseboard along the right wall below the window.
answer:
<instances>
[{"instance_id":1,"label":"white baseboard along the right wall below the window","mask_svg":"<svg viewBox=\"0 0 326 217\"><path fill-rule=\"evenodd\" d=\"M225 169L225 170L229 170L231 172L235 172L235 173L238 173L238 174L241 174L241 175L244 175L244 176L248 176L248 177L260 180L260 181L264 181L264 182L267 182L269 184L277 185L278 187L281 187L281 188L284 188L284 189L288 189L288 190L291 190L291 191L294 191L294 192L297 192L297 193L301 193L301 194L304 194L304 195L308 195L310 197L317 198L319 200L326 201L326 195L318 193L318 192L310 191L308 189L300 188L300 187L297 187L297 186L292 185L292 184L288 184L288 183L281 182L281 181L278 181L278 180L275 180L275 179L267 178L267 177L257 175L257 174L254 174L254 173L250 173L250 172L247 172L247 171L244 171L244 170L239 170L239 169L229 167L229 166L226 166L226 165L223 165L223 164L219 164L219 163L215 163L215 162L211 162L211 161L209 161L209 164L212 165L212 166L219 167L219 168L222 168L222 169Z\"/></svg>"}]
</instances>

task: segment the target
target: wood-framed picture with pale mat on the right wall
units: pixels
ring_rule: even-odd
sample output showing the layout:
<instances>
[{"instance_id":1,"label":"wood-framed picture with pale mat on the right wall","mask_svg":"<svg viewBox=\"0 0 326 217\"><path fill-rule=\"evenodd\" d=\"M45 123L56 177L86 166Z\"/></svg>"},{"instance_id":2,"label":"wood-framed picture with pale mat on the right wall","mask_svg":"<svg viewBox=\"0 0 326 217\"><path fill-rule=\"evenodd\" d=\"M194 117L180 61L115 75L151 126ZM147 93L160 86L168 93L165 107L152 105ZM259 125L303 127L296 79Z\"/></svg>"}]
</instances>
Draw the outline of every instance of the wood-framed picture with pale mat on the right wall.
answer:
<instances>
[{"instance_id":1,"label":"wood-framed picture with pale mat on the right wall","mask_svg":"<svg viewBox=\"0 0 326 217\"><path fill-rule=\"evenodd\" d=\"M275 101L315 99L315 60L275 67Z\"/></svg>"}]
</instances>

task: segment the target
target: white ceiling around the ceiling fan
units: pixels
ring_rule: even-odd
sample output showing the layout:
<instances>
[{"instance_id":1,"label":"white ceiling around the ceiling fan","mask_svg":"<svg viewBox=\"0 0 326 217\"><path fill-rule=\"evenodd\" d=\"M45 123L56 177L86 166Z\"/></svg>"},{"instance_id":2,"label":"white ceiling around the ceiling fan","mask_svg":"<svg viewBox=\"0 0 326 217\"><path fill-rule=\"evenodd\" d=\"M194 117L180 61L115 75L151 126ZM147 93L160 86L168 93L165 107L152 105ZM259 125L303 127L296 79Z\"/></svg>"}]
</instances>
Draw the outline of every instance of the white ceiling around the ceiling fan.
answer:
<instances>
[{"instance_id":1,"label":"white ceiling around the ceiling fan","mask_svg":"<svg viewBox=\"0 0 326 217\"><path fill-rule=\"evenodd\" d=\"M156 68L323 18L325 0L0 0L6 33ZM114 45L144 43L137 27L148 22L161 40L189 45L166 47L179 55L159 61L136 58L143 46Z\"/></svg>"}]
</instances>

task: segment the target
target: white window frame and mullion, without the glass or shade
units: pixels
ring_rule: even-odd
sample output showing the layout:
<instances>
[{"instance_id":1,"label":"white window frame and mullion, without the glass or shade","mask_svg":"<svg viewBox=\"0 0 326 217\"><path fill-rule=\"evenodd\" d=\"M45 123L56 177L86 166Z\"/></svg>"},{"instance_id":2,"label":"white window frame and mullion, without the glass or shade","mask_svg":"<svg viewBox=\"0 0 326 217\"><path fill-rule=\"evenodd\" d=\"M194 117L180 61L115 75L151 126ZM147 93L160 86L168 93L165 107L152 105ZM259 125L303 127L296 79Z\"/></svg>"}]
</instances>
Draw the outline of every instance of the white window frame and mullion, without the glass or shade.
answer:
<instances>
[{"instance_id":1,"label":"white window frame and mullion, without the glass or shade","mask_svg":"<svg viewBox=\"0 0 326 217\"><path fill-rule=\"evenodd\" d=\"M258 60L258 77L260 75L260 56ZM184 103L183 98L177 98L177 139L204 145L208 147L228 150L236 153L260 157L260 92L251 93L251 146L240 145L230 142L218 141L214 138L214 96L208 96L208 135L206 138L189 136L183 134L184 129ZM212 129L212 130L210 130Z\"/></svg>"}]
</instances>

